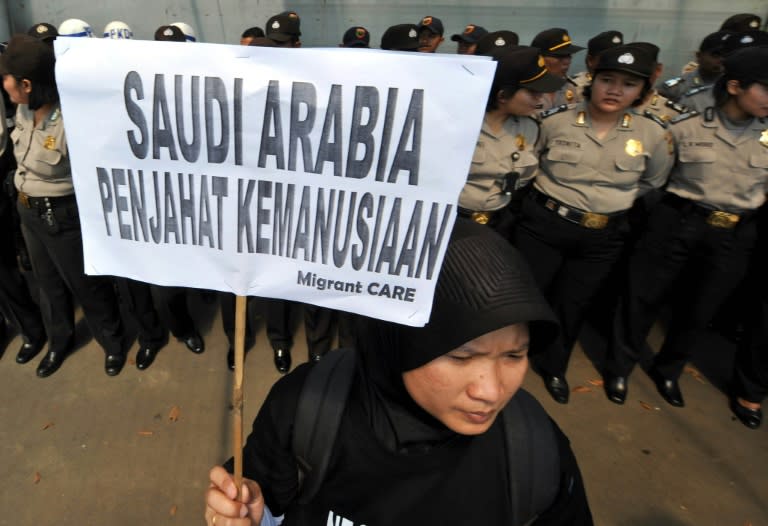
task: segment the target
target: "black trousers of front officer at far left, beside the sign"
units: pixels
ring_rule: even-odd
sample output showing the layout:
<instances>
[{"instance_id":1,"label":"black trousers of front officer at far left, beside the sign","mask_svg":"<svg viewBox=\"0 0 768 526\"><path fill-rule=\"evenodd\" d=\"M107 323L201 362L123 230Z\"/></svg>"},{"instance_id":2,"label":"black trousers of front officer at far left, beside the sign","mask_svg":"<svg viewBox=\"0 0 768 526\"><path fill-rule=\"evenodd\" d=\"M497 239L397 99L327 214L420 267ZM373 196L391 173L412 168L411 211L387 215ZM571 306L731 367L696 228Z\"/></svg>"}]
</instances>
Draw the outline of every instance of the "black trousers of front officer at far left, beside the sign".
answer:
<instances>
[{"instance_id":1,"label":"black trousers of front officer at far left, beside the sign","mask_svg":"<svg viewBox=\"0 0 768 526\"><path fill-rule=\"evenodd\" d=\"M50 209L18 203L32 271L40 286L40 313L50 351L67 352L74 343L72 295L83 308L93 337L107 354L125 352L123 324L111 278L86 276L77 203L56 200Z\"/></svg>"}]
</instances>

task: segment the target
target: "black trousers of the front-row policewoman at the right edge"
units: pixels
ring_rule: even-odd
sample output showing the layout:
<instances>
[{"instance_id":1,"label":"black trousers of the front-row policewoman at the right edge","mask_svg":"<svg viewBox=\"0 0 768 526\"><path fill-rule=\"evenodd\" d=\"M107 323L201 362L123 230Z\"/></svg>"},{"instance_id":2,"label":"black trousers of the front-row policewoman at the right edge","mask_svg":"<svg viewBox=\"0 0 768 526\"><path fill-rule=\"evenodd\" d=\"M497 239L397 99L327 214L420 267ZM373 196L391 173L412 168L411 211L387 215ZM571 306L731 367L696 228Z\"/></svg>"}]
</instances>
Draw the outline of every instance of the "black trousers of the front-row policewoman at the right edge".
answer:
<instances>
[{"instance_id":1,"label":"black trousers of the front-row policewoman at the right edge","mask_svg":"<svg viewBox=\"0 0 768 526\"><path fill-rule=\"evenodd\" d=\"M630 257L616 310L608 374L628 376L641 356L668 292L686 284L673 302L674 314L654 367L676 379L690 358L695 338L746 274L756 240L755 221L716 228L694 204L663 199L651 211L648 229Z\"/></svg>"}]
</instances>

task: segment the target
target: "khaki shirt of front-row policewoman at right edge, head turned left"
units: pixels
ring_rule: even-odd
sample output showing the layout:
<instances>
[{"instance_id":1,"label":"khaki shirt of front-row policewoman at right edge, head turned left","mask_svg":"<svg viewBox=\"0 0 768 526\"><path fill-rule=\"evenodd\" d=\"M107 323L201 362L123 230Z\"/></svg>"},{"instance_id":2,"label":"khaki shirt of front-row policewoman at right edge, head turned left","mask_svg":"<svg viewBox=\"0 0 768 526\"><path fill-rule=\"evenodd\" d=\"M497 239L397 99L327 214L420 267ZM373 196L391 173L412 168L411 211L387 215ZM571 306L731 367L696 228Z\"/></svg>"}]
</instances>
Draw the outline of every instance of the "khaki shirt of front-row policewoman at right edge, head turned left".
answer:
<instances>
[{"instance_id":1,"label":"khaki shirt of front-row policewoman at right edge, head turned left","mask_svg":"<svg viewBox=\"0 0 768 526\"><path fill-rule=\"evenodd\" d=\"M718 210L755 210L768 191L768 122L753 119L729 130L710 111L671 125L677 142L677 162L667 190Z\"/></svg>"}]
</instances>

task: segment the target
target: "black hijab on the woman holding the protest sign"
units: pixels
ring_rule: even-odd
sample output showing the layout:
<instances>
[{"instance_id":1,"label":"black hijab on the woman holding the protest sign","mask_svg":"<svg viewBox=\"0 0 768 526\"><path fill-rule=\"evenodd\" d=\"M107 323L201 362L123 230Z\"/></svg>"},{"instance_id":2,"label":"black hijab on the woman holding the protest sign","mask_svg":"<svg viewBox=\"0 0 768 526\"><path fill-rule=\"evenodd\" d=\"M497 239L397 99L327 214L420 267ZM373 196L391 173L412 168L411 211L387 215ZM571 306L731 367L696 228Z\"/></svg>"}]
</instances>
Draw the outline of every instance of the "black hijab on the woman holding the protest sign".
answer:
<instances>
[{"instance_id":1,"label":"black hijab on the woman holding the protest sign","mask_svg":"<svg viewBox=\"0 0 768 526\"><path fill-rule=\"evenodd\" d=\"M557 333L557 322L523 257L492 229L458 218L424 327L361 318L359 382L353 392L371 427L392 451L420 452L457 436L408 394L403 373L463 343L526 322L531 353Z\"/></svg>"}]
</instances>

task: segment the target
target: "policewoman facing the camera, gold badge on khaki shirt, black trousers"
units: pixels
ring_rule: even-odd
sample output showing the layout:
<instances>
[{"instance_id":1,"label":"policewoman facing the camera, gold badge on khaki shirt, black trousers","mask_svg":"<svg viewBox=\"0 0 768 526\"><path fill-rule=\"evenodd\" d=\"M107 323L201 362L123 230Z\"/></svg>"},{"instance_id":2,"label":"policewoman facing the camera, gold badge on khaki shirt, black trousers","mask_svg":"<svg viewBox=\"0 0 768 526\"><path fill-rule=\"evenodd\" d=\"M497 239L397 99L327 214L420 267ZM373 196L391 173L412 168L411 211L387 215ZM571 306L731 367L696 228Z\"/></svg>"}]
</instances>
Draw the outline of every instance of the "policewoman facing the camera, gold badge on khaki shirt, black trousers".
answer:
<instances>
[{"instance_id":1,"label":"policewoman facing the camera, gold badge on khaki shirt, black trousers","mask_svg":"<svg viewBox=\"0 0 768 526\"><path fill-rule=\"evenodd\" d=\"M621 253L626 212L672 165L664 124L632 109L652 72L634 48L606 50L587 100L541 124L539 170L515 243L560 319L560 337L533 362L559 403L568 402L565 372L586 308Z\"/></svg>"}]
</instances>

